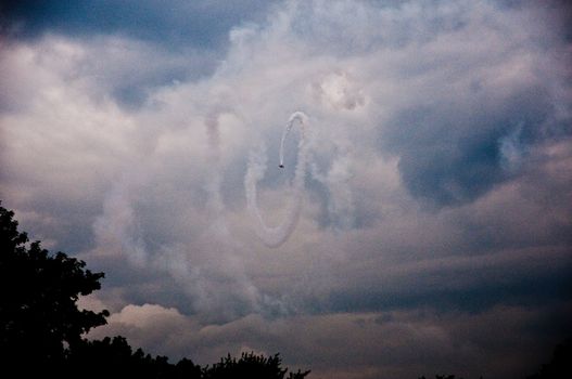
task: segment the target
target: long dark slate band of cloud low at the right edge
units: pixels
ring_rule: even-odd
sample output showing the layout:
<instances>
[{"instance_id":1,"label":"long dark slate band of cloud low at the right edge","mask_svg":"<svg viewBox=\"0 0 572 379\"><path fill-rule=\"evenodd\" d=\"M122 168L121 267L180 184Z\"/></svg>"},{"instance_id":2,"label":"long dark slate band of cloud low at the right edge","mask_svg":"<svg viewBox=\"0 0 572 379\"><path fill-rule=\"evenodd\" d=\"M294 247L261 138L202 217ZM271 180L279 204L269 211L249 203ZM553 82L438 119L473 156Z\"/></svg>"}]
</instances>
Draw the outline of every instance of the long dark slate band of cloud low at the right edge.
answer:
<instances>
[{"instance_id":1,"label":"long dark slate band of cloud low at the right edge","mask_svg":"<svg viewBox=\"0 0 572 379\"><path fill-rule=\"evenodd\" d=\"M554 257L547 258L554 260ZM487 312L499 305L542 306L572 299L572 262L560 257L555 265L526 273L512 265L460 270L420 270L395 282L354 291L332 292L327 309L336 312L381 312L432 309L438 312ZM514 263L514 262L511 262ZM523 264L522 262L521 264ZM531 262L526 262L530 264ZM386 276L386 275L385 275ZM385 288L387 286L389 288Z\"/></svg>"}]
</instances>

